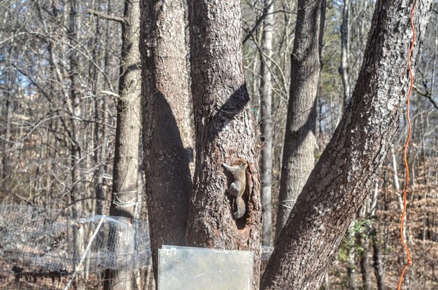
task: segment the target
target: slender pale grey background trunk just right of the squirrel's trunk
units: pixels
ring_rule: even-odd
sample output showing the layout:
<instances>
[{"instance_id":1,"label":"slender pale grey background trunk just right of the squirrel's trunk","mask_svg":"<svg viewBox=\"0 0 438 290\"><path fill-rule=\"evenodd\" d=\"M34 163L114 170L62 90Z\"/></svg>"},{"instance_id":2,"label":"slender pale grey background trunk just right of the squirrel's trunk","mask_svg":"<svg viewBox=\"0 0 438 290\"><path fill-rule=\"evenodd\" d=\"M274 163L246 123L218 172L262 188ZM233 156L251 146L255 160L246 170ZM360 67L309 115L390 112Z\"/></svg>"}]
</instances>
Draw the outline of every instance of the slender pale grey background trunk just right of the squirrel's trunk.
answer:
<instances>
[{"instance_id":1,"label":"slender pale grey background trunk just right of the squirrel's trunk","mask_svg":"<svg viewBox=\"0 0 438 290\"><path fill-rule=\"evenodd\" d=\"M267 16L263 20L262 54L260 61L260 131L262 139L262 157L260 175L262 176L262 244L272 245L272 89L271 72L268 64L272 56L272 29L274 26L274 5L264 3Z\"/></svg>"}]
</instances>

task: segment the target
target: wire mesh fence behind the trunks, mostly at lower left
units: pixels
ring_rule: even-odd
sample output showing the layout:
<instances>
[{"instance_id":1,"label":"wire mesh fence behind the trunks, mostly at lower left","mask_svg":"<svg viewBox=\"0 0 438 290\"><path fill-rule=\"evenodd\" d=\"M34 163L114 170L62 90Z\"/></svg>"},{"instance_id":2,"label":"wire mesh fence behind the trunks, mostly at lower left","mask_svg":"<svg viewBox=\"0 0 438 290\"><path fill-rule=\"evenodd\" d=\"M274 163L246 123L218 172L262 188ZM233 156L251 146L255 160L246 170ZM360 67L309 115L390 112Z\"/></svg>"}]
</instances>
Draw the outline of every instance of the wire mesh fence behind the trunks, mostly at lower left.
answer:
<instances>
[{"instance_id":1,"label":"wire mesh fence behind the trunks, mostly at lower left","mask_svg":"<svg viewBox=\"0 0 438 290\"><path fill-rule=\"evenodd\" d=\"M272 250L262 247L262 270ZM147 222L0 205L0 289L108 289L110 282L151 289Z\"/></svg>"}]
</instances>

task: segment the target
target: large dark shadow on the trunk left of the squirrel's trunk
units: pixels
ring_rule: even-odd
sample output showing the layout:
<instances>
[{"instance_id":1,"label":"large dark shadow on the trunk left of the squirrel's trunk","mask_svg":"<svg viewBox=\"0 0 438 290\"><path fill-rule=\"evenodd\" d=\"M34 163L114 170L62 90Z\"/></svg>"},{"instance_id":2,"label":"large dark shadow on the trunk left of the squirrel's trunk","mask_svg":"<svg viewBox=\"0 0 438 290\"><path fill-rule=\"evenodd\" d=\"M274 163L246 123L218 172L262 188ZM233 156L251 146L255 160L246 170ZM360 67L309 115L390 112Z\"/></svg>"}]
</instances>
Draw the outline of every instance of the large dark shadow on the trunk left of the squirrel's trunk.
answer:
<instances>
[{"instance_id":1,"label":"large dark shadow on the trunk left of the squirrel's trunk","mask_svg":"<svg viewBox=\"0 0 438 290\"><path fill-rule=\"evenodd\" d=\"M143 93L143 162L153 267L157 269L157 251L163 244L185 245L192 148L183 146L176 117L164 95L155 86L146 94L149 96ZM157 270L154 274L157 279Z\"/></svg>"}]
</instances>

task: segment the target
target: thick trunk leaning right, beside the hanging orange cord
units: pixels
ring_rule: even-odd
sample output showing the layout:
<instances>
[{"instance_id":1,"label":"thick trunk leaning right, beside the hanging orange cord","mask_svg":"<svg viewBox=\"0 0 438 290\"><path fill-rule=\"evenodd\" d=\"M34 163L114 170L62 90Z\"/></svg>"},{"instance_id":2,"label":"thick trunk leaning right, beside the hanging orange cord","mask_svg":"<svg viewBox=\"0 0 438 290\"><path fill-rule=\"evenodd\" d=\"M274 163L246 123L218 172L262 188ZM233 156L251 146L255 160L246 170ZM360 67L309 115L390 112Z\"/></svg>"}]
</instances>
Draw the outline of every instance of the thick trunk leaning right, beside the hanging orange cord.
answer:
<instances>
[{"instance_id":1,"label":"thick trunk leaning right, beside the hanging orange cord","mask_svg":"<svg viewBox=\"0 0 438 290\"><path fill-rule=\"evenodd\" d=\"M299 195L262 277L262 289L316 289L390 149L407 96L411 1L376 3L351 103ZM402 7L403 9L401 9ZM421 43L430 1L418 1ZM414 56L418 55L418 46Z\"/></svg>"}]
</instances>

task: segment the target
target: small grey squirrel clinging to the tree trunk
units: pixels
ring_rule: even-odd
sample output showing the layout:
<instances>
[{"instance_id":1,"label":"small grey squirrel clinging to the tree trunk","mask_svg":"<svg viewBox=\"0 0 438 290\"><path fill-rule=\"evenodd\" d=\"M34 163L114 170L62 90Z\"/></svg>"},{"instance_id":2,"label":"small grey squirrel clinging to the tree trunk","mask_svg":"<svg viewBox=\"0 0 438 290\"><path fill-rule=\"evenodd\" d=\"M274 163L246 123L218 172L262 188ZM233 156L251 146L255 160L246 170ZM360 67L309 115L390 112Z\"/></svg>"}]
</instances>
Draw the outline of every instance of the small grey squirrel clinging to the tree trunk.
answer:
<instances>
[{"instance_id":1,"label":"small grey squirrel clinging to the tree trunk","mask_svg":"<svg viewBox=\"0 0 438 290\"><path fill-rule=\"evenodd\" d=\"M240 219L246 212L246 205L242 196L246 188L246 168L248 168L248 162L245 159L240 160L240 164L236 166L228 166L225 163L222 164L234 177L234 182L232 182L228 189L229 194L236 198L236 212L233 214L234 219Z\"/></svg>"}]
</instances>

